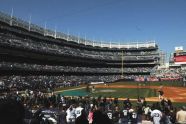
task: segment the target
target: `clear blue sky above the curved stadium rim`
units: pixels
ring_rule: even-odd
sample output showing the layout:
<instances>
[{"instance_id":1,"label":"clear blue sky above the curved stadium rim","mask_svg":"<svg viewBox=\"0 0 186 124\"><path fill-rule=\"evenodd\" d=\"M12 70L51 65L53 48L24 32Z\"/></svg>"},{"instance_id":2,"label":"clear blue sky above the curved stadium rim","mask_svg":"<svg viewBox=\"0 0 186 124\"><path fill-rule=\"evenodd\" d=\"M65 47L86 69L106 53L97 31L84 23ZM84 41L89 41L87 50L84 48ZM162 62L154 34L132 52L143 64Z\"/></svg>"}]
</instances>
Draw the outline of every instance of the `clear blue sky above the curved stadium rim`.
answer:
<instances>
[{"instance_id":1,"label":"clear blue sky above the curved stadium rim","mask_svg":"<svg viewBox=\"0 0 186 124\"><path fill-rule=\"evenodd\" d=\"M186 50L186 0L0 0L0 11L12 8L14 16L87 39Z\"/></svg>"}]
</instances>

